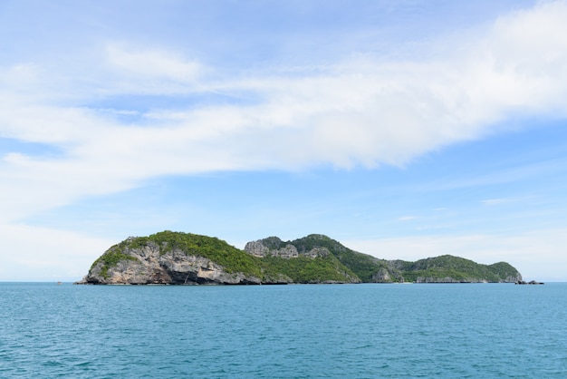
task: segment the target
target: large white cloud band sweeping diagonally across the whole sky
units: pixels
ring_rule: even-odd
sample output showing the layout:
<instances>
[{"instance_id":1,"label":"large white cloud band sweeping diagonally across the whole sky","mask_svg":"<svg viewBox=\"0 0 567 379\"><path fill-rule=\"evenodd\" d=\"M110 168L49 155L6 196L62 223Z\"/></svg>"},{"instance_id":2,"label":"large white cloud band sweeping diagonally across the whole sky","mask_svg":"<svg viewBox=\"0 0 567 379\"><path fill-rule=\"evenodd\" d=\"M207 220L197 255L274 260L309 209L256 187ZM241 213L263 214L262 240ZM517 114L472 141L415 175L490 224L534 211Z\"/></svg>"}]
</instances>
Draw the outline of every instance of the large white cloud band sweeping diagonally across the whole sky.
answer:
<instances>
[{"instance_id":1,"label":"large white cloud band sweeping diagonally across the whole sky","mask_svg":"<svg viewBox=\"0 0 567 379\"><path fill-rule=\"evenodd\" d=\"M102 62L87 65L82 74L92 68L92 77L86 82L73 71L65 76L41 63L16 64L0 76L0 137L48 144L61 154L3 152L0 217L14 222L159 175L403 165L491 133L514 112L564 117L566 19L566 2L542 3L501 17L480 37L423 46L437 52L427 62L367 56L303 77L263 73L207 81L210 69L181 53L123 44L109 44ZM243 104L116 110L139 114L139 124L76 106L104 96L198 91L244 96Z\"/></svg>"}]
</instances>

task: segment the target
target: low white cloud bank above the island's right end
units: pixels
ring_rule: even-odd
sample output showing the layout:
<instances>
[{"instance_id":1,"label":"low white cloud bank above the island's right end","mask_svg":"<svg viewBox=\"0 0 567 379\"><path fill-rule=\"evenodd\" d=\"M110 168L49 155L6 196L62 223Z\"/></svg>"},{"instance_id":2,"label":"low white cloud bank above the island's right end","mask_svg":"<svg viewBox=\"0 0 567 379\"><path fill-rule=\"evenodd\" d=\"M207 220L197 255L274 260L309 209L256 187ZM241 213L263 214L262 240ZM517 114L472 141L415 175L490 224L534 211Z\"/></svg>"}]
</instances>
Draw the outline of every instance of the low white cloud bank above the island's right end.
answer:
<instances>
[{"instance_id":1,"label":"low white cloud bank above the island's right end","mask_svg":"<svg viewBox=\"0 0 567 379\"><path fill-rule=\"evenodd\" d=\"M565 278L567 229L533 230L517 235L433 235L366 240L343 240L345 246L383 259L416 261L453 255L477 263L505 261L524 278L556 280Z\"/></svg>"}]
</instances>

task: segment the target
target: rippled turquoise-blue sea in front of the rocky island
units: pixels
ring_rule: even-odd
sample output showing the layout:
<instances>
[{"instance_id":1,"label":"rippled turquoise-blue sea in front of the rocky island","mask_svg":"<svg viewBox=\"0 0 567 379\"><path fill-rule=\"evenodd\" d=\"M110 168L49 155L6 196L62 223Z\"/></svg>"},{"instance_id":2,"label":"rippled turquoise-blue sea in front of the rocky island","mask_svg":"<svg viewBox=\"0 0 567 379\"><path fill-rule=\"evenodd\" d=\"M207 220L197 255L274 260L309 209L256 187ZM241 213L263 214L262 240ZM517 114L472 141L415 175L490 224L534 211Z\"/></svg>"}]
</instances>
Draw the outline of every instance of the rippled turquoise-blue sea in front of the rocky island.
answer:
<instances>
[{"instance_id":1,"label":"rippled turquoise-blue sea in front of the rocky island","mask_svg":"<svg viewBox=\"0 0 567 379\"><path fill-rule=\"evenodd\" d=\"M567 283L0 283L1 378L567 378Z\"/></svg>"}]
</instances>

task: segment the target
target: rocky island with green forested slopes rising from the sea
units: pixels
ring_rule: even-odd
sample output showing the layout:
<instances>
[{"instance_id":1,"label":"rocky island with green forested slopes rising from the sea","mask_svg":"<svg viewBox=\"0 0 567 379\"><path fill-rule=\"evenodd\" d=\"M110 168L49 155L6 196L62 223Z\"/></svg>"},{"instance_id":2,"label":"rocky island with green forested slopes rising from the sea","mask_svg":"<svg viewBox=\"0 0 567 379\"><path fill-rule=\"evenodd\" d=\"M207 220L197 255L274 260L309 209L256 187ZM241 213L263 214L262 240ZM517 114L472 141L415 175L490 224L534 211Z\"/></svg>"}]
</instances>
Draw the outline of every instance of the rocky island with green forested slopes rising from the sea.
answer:
<instances>
[{"instance_id":1,"label":"rocky island with green forested slopes rising from the sea","mask_svg":"<svg viewBox=\"0 0 567 379\"><path fill-rule=\"evenodd\" d=\"M259 239L241 250L218 238L163 231L112 246L77 283L514 283L521 279L505 262L482 265L453 256L386 260L319 234L293 241Z\"/></svg>"}]
</instances>

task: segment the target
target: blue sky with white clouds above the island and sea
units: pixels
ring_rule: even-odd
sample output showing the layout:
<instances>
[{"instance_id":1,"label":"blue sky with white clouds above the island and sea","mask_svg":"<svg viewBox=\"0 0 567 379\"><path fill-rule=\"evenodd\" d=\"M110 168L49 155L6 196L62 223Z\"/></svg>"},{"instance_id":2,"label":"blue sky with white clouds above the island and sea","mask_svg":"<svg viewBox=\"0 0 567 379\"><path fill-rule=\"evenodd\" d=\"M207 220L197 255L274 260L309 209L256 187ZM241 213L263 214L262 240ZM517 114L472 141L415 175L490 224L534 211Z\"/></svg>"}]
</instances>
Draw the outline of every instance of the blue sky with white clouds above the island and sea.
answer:
<instances>
[{"instance_id":1,"label":"blue sky with white clouds above the island and sea","mask_svg":"<svg viewBox=\"0 0 567 379\"><path fill-rule=\"evenodd\" d=\"M567 281L567 1L0 0L0 281L162 230Z\"/></svg>"}]
</instances>

